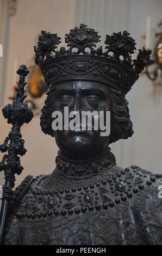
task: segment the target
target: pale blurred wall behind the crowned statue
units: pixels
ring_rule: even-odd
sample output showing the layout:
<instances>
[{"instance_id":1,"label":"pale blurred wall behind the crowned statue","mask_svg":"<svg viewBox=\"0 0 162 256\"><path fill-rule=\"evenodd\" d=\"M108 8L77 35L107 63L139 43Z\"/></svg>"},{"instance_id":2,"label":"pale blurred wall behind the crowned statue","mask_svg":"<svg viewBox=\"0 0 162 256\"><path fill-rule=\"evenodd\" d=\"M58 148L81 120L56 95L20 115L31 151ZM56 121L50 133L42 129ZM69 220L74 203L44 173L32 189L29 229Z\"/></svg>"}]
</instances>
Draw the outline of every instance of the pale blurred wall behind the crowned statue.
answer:
<instances>
[{"instance_id":1,"label":"pale blurred wall behind the crowned statue","mask_svg":"<svg viewBox=\"0 0 162 256\"><path fill-rule=\"evenodd\" d=\"M41 30L58 33L64 46L65 33L80 23L99 31L101 44L105 34L127 30L136 40L137 48L141 48L145 44L142 35L146 33L147 16L151 17L153 29L160 22L161 13L161 0L0 0L0 43L3 45L3 57L0 57L1 109L11 103L8 98L13 96L17 66L34 64L33 46ZM150 40L152 46L153 39ZM39 100L43 104L45 95ZM142 75L127 94L127 100L134 135L110 145L117 164L122 167L136 164L153 173L161 173L161 88L154 88L146 75ZM39 115L36 115L21 129L28 152L22 157L24 170L16 176L16 185L28 174L48 174L54 169L58 148L53 138L41 132L39 123ZM0 112L1 142L9 131L10 125ZM3 182L1 173L0 184Z\"/></svg>"}]
</instances>

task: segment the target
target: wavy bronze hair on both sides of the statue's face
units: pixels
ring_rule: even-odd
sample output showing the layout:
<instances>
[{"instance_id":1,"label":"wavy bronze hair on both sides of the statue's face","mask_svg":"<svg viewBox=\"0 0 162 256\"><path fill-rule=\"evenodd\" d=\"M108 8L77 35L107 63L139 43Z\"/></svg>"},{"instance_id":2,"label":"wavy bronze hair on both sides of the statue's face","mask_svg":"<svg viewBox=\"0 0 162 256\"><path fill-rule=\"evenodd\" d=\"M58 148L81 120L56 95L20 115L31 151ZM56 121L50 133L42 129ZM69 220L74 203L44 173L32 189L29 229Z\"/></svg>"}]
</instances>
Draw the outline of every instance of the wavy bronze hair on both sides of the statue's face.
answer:
<instances>
[{"instance_id":1,"label":"wavy bronze hair on both sides of the statue's face","mask_svg":"<svg viewBox=\"0 0 162 256\"><path fill-rule=\"evenodd\" d=\"M54 137L52 130L53 94L57 86L52 87L47 92L45 106L42 108L40 126L45 134ZM128 101L118 90L109 87L111 98L111 132L110 141L113 143L119 139L127 139L133 135L132 121L130 121Z\"/></svg>"}]
</instances>

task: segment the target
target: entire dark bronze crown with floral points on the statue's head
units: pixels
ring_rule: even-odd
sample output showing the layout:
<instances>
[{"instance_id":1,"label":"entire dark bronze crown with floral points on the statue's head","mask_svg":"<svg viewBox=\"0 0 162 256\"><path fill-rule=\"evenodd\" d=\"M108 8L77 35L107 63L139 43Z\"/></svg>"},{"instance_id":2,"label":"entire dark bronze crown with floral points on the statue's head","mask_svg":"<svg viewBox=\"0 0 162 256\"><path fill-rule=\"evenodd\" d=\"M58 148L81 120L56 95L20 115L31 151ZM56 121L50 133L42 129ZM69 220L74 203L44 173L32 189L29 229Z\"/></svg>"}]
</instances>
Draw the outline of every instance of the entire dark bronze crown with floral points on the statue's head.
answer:
<instances>
[{"instance_id":1,"label":"entire dark bronze crown with floral points on the statue's head","mask_svg":"<svg viewBox=\"0 0 162 256\"><path fill-rule=\"evenodd\" d=\"M65 35L68 49L60 47L57 50L61 38L42 31L38 46L34 46L35 63L40 66L48 87L60 81L79 78L105 82L126 94L138 80L151 55L151 50L143 48L132 60L130 54L136 50L136 43L129 35L127 31L107 35L107 46L103 52L102 46L96 50L94 48L95 43L101 41L98 32L81 24Z\"/></svg>"}]
</instances>

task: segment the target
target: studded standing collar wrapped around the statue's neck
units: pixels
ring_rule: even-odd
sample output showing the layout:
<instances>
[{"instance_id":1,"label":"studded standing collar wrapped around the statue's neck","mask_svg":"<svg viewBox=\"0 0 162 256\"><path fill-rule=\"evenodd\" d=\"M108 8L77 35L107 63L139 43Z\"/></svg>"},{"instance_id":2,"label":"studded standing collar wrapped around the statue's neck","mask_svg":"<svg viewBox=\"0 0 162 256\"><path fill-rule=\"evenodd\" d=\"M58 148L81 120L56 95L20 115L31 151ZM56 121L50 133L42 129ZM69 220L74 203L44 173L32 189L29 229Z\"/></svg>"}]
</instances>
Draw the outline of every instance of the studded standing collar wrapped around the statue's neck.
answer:
<instances>
[{"instance_id":1,"label":"studded standing collar wrapped around the statue's neck","mask_svg":"<svg viewBox=\"0 0 162 256\"><path fill-rule=\"evenodd\" d=\"M63 175L71 178L88 178L111 168L116 162L115 156L110 152L110 148L108 148L96 157L78 161L65 157L59 150L56 164L58 172Z\"/></svg>"}]
</instances>

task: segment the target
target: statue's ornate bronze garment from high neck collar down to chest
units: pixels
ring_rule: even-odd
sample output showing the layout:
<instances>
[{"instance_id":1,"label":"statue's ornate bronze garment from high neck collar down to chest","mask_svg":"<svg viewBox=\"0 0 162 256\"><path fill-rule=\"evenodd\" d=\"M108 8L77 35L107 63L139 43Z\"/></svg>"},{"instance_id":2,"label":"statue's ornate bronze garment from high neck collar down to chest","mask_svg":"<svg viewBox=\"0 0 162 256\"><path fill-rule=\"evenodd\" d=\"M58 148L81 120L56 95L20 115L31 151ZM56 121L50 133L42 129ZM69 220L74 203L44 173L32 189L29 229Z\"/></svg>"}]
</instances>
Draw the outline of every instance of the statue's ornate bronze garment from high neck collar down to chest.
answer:
<instances>
[{"instance_id":1,"label":"statue's ornate bronze garment from high neck collar down to chest","mask_svg":"<svg viewBox=\"0 0 162 256\"><path fill-rule=\"evenodd\" d=\"M160 244L160 177L122 169L109 152L79 164L59 155L51 175L27 176L15 190L6 244Z\"/></svg>"}]
</instances>

